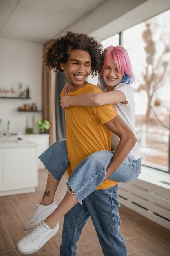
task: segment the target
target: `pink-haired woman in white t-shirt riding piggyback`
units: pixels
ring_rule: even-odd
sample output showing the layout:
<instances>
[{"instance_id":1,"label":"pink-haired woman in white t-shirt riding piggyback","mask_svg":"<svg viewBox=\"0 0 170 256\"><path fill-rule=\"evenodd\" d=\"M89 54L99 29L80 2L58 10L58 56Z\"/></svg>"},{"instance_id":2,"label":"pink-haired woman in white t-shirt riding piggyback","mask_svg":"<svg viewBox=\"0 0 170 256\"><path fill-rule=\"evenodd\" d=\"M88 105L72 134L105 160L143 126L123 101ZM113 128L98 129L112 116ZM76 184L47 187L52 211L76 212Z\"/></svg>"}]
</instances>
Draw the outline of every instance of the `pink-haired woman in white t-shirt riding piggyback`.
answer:
<instances>
[{"instance_id":1,"label":"pink-haired woman in white t-shirt riding piggyback","mask_svg":"<svg viewBox=\"0 0 170 256\"><path fill-rule=\"evenodd\" d=\"M135 104L133 89L130 85L134 81L134 74L129 56L123 47L110 46L106 49L104 64L99 74L99 79L102 89L106 93L102 93L101 91L101 93L88 92L75 97L64 96L61 98L62 108L73 105L98 106L114 104L118 114L135 134ZM53 229L56 227L60 218L77 204L77 202L82 203L82 200L92 191L100 189L102 182L108 182L109 187L109 182L112 180L129 182L136 179L141 169L141 155L137 142L122 164L118 166L111 175L107 173L107 168L114 156L119 140L120 138L113 134L113 151L98 151L92 153L76 166L67 182L68 191L70 193L66 193L58 207L53 198L60 179L69 164L66 140L57 141L47 149L39 157L50 173L47 180L46 191L41 203L38 204L37 209L33 213L33 216L24 224L24 229L34 227L42 220L44 220L48 227ZM42 212L45 212L45 214L43 215ZM39 226L36 229L38 228ZM31 233L34 234L34 231ZM34 236L33 234L31 234L31 236Z\"/></svg>"}]
</instances>

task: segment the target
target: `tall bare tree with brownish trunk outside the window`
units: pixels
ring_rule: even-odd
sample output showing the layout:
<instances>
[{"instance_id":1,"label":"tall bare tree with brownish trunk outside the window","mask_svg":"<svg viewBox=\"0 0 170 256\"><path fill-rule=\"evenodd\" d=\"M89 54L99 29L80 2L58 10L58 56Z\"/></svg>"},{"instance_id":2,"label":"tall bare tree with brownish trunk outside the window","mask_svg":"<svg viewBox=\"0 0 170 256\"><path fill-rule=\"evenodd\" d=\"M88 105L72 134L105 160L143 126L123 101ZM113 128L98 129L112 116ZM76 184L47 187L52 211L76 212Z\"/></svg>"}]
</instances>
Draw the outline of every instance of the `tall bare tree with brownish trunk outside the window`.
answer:
<instances>
[{"instance_id":1,"label":"tall bare tree with brownish trunk outside the window","mask_svg":"<svg viewBox=\"0 0 170 256\"><path fill-rule=\"evenodd\" d=\"M167 42L164 39L165 35L163 33L159 35L160 38L157 38L156 41L156 39L154 40L154 33L158 26L159 23L157 22L157 19L152 18L145 22L146 29L142 33L142 38L145 43L146 66L142 72L143 83L139 85L137 92L144 90L147 94L146 124L152 122L151 112L153 107L160 105L164 106L164 103L159 99L157 92L159 88L163 88L167 78L170 81L170 31L168 31L169 35ZM166 108L168 108L168 106L166 106ZM156 111L153 110L153 112L160 124L166 127L161 119L159 119L159 115L157 115Z\"/></svg>"}]
</instances>

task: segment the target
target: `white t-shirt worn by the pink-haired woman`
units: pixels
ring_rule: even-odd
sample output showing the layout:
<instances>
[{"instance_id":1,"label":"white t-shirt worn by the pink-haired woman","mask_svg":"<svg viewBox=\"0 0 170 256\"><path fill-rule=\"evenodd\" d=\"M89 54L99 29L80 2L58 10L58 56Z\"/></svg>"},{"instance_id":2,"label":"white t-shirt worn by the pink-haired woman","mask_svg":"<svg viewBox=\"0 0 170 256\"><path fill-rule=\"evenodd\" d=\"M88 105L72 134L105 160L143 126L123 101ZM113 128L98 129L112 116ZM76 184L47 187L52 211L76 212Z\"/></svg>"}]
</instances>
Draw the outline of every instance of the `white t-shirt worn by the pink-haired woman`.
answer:
<instances>
[{"instance_id":1,"label":"white t-shirt worn by the pink-haired woman","mask_svg":"<svg viewBox=\"0 0 170 256\"><path fill-rule=\"evenodd\" d=\"M135 102L133 97L133 88L131 85L127 85L125 83L118 84L114 90L120 90L124 93L126 97L127 104L117 103L113 104L117 113L121 116L121 118L126 122L126 124L131 128L131 130L135 132ZM137 137L137 136L136 136ZM112 150L115 151L117 145L119 143L120 138L112 134ZM136 142L135 146L132 148L130 153L128 154L133 160L137 160L141 158L141 154L139 151L138 143Z\"/></svg>"}]
</instances>

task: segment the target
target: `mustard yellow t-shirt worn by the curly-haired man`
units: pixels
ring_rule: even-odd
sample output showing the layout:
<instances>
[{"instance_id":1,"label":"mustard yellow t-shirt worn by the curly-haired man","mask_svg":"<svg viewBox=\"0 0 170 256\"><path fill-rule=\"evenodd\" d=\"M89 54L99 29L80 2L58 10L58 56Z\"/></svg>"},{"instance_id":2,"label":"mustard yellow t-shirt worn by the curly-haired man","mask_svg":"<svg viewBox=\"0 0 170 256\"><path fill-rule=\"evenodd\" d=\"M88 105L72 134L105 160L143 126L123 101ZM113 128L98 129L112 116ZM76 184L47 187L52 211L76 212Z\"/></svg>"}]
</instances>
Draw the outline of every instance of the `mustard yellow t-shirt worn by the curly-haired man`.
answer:
<instances>
[{"instance_id":1,"label":"mustard yellow t-shirt worn by the curly-haired man","mask_svg":"<svg viewBox=\"0 0 170 256\"><path fill-rule=\"evenodd\" d=\"M77 96L86 92L103 93L96 85L88 83L75 92L68 92L67 95ZM64 96L63 92L62 96ZM100 150L111 150L111 131L104 124L116 116L117 112L112 105L71 106L65 109L69 176L75 166L89 154ZM116 181L106 180L97 189L106 189L116 184Z\"/></svg>"}]
</instances>

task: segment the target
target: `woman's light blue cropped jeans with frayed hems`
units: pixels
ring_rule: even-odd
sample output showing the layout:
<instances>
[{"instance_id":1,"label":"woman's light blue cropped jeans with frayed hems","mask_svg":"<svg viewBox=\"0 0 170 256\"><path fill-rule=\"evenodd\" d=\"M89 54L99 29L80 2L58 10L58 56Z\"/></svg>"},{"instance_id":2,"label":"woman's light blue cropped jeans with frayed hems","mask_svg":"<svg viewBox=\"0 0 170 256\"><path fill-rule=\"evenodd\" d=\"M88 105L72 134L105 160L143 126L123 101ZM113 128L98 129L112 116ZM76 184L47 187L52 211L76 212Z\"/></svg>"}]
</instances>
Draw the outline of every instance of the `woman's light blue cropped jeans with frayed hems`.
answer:
<instances>
[{"instance_id":1,"label":"woman's light blue cropped jeans with frayed hems","mask_svg":"<svg viewBox=\"0 0 170 256\"><path fill-rule=\"evenodd\" d=\"M83 159L75 167L67 182L67 186L68 190L73 189L80 203L102 183L106 175L107 166L112 160L113 155L113 151L97 151ZM51 175L60 181L69 164L66 140L56 141L40 155L39 159ZM140 159L135 161L130 157L126 157L119 168L110 175L109 180L130 182L137 179L140 170Z\"/></svg>"}]
</instances>

